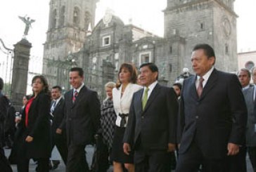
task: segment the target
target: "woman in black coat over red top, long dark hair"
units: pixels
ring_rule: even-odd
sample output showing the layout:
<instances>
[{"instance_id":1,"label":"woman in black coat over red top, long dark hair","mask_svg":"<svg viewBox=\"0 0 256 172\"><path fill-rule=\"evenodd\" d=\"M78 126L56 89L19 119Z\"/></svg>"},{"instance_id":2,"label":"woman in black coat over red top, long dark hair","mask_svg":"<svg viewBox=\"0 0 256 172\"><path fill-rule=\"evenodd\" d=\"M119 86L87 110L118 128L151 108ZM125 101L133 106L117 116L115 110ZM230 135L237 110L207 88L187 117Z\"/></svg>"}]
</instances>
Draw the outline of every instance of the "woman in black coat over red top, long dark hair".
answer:
<instances>
[{"instance_id":1,"label":"woman in black coat over red top, long dark hair","mask_svg":"<svg viewBox=\"0 0 256 172\"><path fill-rule=\"evenodd\" d=\"M27 172L30 159L37 160L38 172L49 171L51 156L51 129L49 112L51 97L49 86L44 76L38 75L32 79L33 95L21 114L18 127L21 130L18 147L19 172Z\"/></svg>"}]
</instances>

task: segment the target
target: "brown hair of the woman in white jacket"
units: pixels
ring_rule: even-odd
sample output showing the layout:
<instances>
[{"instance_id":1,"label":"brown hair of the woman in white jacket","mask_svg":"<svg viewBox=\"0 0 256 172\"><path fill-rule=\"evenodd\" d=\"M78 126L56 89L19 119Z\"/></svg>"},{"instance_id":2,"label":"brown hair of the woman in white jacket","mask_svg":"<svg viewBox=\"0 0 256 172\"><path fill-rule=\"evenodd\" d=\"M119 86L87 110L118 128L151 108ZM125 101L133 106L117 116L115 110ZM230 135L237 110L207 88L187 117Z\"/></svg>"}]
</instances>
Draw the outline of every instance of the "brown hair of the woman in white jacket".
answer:
<instances>
[{"instance_id":1,"label":"brown hair of the woman in white jacket","mask_svg":"<svg viewBox=\"0 0 256 172\"><path fill-rule=\"evenodd\" d=\"M131 64L131 63L127 63L127 62L124 62L121 66L120 66L120 69L119 69L119 72L118 72L118 79L117 79L117 84L116 84L116 88L119 88L121 86L121 81L119 79L119 74L120 72L122 71L123 68L126 68L127 70L129 70L130 74L131 74L131 79L130 79L130 83L132 84L136 84L136 81L137 81L137 70L136 70L136 67Z\"/></svg>"}]
</instances>

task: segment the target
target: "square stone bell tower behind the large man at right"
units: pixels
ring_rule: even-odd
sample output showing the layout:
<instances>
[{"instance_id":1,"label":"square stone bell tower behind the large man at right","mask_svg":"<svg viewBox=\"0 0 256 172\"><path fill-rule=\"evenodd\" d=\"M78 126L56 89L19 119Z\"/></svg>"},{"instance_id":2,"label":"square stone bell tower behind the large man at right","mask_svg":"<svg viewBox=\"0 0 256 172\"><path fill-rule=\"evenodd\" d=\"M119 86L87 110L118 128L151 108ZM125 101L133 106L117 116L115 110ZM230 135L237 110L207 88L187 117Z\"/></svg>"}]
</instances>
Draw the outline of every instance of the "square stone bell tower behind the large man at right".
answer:
<instances>
[{"instance_id":1,"label":"square stone bell tower behind the large man at right","mask_svg":"<svg viewBox=\"0 0 256 172\"><path fill-rule=\"evenodd\" d=\"M226 72L238 69L235 0L167 0L165 37L183 37L185 51L181 69L191 69L191 51L196 44L215 49L216 67Z\"/></svg>"}]
</instances>

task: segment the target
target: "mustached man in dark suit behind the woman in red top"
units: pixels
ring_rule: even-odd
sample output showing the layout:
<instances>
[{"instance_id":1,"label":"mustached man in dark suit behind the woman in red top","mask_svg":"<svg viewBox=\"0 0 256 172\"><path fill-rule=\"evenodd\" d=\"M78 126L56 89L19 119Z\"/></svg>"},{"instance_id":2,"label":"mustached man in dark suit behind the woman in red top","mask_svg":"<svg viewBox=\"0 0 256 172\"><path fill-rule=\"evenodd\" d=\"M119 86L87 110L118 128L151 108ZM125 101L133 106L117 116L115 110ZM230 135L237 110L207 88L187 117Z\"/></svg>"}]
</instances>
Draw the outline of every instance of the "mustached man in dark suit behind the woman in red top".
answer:
<instances>
[{"instance_id":1,"label":"mustached man in dark suit behind the woman in red top","mask_svg":"<svg viewBox=\"0 0 256 172\"><path fill-rule=\"evenodd\" d=\"M64 163L67 164L68 157L68 145L67 145L67 137L65 133L65 129L60 131L59 127L64 119L64 107L65 101L61 96L61 88L60 86L53 86L51 89L51 98L53 99L51 102L51 134L52 134L52 149L56 145L58 152L60 152L60 156L63 159ZM58 167L60 161L52 160L52 169Z\"/></svg>"}]
</instances>

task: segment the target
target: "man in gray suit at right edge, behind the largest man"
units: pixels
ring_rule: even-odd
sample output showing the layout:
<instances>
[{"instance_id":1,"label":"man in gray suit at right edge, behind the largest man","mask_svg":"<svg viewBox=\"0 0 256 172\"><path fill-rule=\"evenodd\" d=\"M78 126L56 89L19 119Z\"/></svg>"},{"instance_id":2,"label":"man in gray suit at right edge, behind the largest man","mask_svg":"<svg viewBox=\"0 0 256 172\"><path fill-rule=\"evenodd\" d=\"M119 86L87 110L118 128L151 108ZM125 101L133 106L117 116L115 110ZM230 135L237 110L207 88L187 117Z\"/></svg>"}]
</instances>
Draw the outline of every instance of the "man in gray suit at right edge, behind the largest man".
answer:
<instances>
[{"instance_id":1,"label":"man in gray suit at right edge, behind the largest man","mask_svg":"<svg viewBox=\"0 0 256 172\"><path fill-rule=\"evenodd\" d=\"M248 110L248 121L246 131L246 146L252 168L256 171L256 104L255 104L255 85L250 84L250 71L241 69L238 73L238 79L243 86L243 95Z\"/></svg>"}]
</instances>

